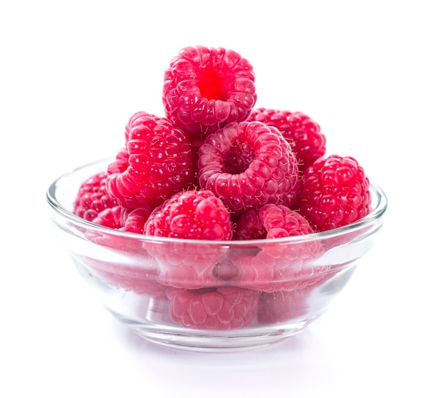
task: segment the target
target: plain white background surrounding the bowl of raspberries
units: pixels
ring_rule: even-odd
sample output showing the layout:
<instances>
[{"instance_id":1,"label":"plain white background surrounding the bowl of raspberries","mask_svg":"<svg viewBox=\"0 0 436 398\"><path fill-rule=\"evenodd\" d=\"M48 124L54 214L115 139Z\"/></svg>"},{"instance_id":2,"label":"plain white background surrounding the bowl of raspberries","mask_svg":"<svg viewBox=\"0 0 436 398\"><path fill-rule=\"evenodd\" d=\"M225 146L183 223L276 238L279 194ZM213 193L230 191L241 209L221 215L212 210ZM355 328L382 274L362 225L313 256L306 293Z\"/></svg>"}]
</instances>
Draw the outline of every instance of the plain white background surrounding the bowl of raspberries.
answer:
<instances>
[{"instance_id":1,"label":"plain white background surrounding the bowl of raspberries","mask_svg":"<svg viewBox=\"0 0 436 398\"><path fill-rule=\"evenodd\" d=\"M3 1L1 397L435 397L432 1ZM377 245L300 335L249 353L160 348L100 306L56 243L45 190L162 115L188 45L256 72L258 106L320 123L387 193Z\"/></svg>"}]
</instances>

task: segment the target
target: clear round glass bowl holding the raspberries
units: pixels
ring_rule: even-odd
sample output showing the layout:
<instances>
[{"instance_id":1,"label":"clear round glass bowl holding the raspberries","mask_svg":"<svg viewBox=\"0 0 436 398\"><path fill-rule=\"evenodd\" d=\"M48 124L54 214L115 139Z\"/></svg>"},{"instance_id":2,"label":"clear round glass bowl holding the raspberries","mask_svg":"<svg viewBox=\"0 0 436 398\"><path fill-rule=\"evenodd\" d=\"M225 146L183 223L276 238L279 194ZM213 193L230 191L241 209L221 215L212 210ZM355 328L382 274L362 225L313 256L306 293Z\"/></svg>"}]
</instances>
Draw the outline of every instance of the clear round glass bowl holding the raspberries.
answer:
<instances>
[{"instance_id":1,"label":"clear round glass bowl holding the raspberries","mask_svg":"<svg viewBox=\"0 0 436 398\"><path fill-rule=\"evenodd\" d=\"M196 351L254 349L301 332L323 314L371 247L387 198L346 227L263 240L185 240L101 227L72 213L100 160L49 186L59 241L102 305L141 337Z\"/></svg>"}]
</instances>

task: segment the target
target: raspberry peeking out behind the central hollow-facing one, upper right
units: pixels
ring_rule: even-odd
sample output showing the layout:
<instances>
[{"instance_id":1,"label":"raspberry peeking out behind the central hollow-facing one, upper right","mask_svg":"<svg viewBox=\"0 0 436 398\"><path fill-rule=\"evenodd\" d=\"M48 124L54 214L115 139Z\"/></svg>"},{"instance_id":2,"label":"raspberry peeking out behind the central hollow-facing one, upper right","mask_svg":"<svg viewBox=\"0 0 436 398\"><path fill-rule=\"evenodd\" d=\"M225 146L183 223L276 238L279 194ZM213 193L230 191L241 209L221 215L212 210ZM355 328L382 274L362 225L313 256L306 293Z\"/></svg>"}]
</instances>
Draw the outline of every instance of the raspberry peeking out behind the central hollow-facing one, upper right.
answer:
<instances>
[{"instance_id":1,"label":"raspberry peeking out behind the central hollow-facing one, upper right","mask_svg":"<svg viewBox=\"0 0 436 398\"><path fill-rule=\"evenodd\" d=\"M258 108L251 111L247 121L261 121L278 128L293 148L301 171L325 155L325 135L320 125L302 112Z\"/></svg>"}]
</instances>

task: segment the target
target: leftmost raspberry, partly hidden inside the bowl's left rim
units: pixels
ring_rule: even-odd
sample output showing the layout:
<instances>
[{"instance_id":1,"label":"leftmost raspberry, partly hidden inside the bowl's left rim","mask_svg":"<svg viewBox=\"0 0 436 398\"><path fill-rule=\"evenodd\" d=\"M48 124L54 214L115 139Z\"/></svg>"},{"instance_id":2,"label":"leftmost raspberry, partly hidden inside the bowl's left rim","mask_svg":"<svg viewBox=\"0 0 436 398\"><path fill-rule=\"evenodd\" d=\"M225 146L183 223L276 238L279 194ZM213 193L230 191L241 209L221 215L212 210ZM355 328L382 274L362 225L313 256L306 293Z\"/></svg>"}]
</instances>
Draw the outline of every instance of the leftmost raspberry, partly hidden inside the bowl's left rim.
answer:
<instances>
[{"instance_id":1,"label":"leftmost raspberry, partly hidden inside the bowl's left rim","mask_svg":"<svg viewBox=\"0 0 436 398\"><path fill-rule=\"evenodd\" d=\"M75 215L92 222L98 213L116 206L106 190L107 175L107 171L102 171L81 183L73 208Z\"/></svg>"}]
</instances>

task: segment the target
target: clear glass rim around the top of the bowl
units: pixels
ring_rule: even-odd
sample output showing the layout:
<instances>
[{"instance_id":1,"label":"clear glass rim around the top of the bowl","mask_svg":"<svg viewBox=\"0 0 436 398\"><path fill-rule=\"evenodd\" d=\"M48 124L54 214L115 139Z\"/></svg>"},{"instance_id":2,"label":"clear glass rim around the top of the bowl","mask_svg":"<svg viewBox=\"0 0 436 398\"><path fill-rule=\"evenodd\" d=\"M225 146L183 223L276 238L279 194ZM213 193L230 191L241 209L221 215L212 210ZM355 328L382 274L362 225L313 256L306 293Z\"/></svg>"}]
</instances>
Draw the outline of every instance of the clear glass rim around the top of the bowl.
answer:
<instances>
[{"instance_id":1,"label":"clear glass rim around the top of the bowl","mask_svg":"<svg viewBox=\"0 0 436 398\"><path fill-rule=\"evenodd\" d=\"M67 171L58 178L56 178L48 187L46 192L46 199L47 202L52 208L52 210L59 216L64 217L69 222L72 222L72 224L75 224L76 227L84 228L87 230L93 230L93 231L100 231L104 234L114 235L114 236L123 236L124 238L132 239L132 240L139 240L141 242L148 241L148 242L155 242L155 243L186 243L190 245L198 245L198 244L208 244L208 245L226 245L226 246L241 246L241 245L268 245L268 244L290 244L290 243L301 243L306 242L309 240L318 240L318 239L328 239L333 238L334 236L339 236L342 234L347 234L350 231L359 230L361 228L365 228L368 225L372 224L373 222L376 222L379 220L384 212L387 210L387 196L380 187L380 185L377 185L377 183L370 181L370 189L371 189L371 195L372 195L372 201L375 206L373 206L373 210L371 213L366 215L365 217L361 218L360 220L357 220L355 222L352 222L351 224L345 225L344 227L339 227L336 229L331 229L329 231L322 231L317 232L314 234L308 234L308 235L302 235L302 236L290 236L286 238L273 238L273 239L256 239L256 240L196 240L196 239L181 239L181 238L165 238L160 236L149 236L149 235L141 235L141 234L134 234L132 232L126 232L126 231L120 231L118 229L111 229L108 227L104 227L99 224L95 224L93 222L84 220L83 218L79 217L78 215L75 215L71 211L68 210L68 208L65 208L58 199L56 199L56 190L58 188L59 183L73 174L77 173L78 171L81 171L86 168L91 167L98 167L99 164L104 167L105 164L109 164L113 159L107 158L103 160L97 160L95 162L89 162L86 164L83 164L79 167L76 167L75 169L72 169L70 171ZM101 171L104 169L102 168ZM97 170L95 170L97 172ZM89 175L91 177L91 175Z\"/></svg>"}]
</instances>

